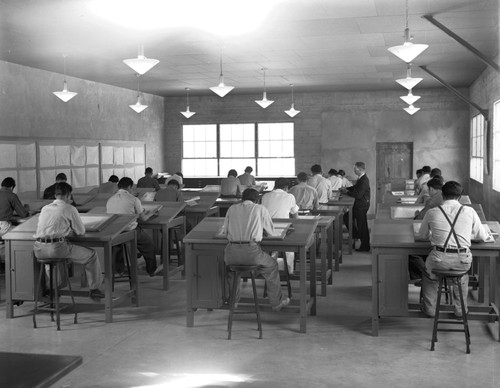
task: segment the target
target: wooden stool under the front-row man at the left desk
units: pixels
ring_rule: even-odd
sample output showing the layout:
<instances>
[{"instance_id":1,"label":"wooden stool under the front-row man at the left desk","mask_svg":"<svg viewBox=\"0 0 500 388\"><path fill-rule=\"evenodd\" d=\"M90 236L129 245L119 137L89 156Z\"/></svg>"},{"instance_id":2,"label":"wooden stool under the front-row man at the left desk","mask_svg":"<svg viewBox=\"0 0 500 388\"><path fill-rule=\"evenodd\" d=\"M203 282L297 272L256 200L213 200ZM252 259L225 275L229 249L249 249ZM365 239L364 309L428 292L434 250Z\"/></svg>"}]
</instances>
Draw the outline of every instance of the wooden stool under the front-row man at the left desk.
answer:
<instances>
[{"instance_id":1,"label":"wooden stool under the front-row man at the left desk","mask_svg":"<svg viewBox=\"0 0 500 388\"><path fill-rule=\"evenodd\" d=\"M38 284L35 289L35 309L33 311L33 327L36 329L36 314L38 313L38 309L44 310L44 311L50 311L50 318L52 322L54 322L54 312L56 313L56 323L57 323L57 330L61 330L61 325L60 325L60 311L65 308L59 306L59 290L58 290L58 284L59 284L59 270L63 274L63 281L66 282L66 285L68 286L69 289L69 295L71 296L71 302L73 303L73 309L75 310L75 319L74 323L78 323L77 321L77 312L76 312L76 304L75 304L75 298L73 297L73 290L71 289L71 283L69 281L69 276L68 276L68 259L66 258L49 258L49 259L36 259L37 262L40 264L40 274L38 276ZM45 274L45 265L49 266L49 278L50 278L50 287L49 287L49 292L50 292L50 302L42 304L40 307L38 306L38 293L40 292L40 288L42 286L42 278ZM54 271L55 269L55 271ZM54 283L55 282L55 283Z\"/></svg>"}]
</instances>

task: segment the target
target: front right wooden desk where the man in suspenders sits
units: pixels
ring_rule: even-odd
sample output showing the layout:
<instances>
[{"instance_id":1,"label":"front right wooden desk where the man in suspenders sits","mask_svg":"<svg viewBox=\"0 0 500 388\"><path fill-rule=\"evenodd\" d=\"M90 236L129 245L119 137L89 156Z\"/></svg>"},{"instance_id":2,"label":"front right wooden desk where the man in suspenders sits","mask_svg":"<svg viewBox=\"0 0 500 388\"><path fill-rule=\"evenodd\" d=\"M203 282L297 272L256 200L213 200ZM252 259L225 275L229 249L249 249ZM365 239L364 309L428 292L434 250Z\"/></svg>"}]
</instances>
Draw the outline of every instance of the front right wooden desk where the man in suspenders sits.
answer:
<instances>
[{"instance_id":1,"label":"front right wooden desk where the man in suspenders sits","mask_svg":"<svg viewBox=\"0 0 500 388\"><path fill-rule=\"evenodd\" d=\"M498 222L486 222L499 231ZM372 230L372 335L377 336L381 317L423 316L419 305L408 304L408 255L427 256L430 242L416 242L412 220L377 219ZM485 265L487 304L469 306L469 319L499 320L500 239L494 243L473 243L471 251ZM409 311L410 310L412 311ZM451 317L451 314L450 314ZM500 341L500 325L494 334Z\"/></svg>"}]
</instances>

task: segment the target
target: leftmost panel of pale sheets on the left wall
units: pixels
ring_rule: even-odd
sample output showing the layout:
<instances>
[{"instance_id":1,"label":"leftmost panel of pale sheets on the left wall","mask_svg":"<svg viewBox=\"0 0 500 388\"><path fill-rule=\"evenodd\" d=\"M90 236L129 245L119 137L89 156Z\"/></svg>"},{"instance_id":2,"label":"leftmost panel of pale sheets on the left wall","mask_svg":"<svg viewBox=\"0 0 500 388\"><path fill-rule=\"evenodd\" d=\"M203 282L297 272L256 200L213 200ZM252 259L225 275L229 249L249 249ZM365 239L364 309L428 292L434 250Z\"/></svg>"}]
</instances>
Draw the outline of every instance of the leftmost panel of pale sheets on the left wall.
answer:
<instances>
[{"instance_id":1,"label":"leftmost panel of pale sheets on the left wall","mask_svg":"<svg viewBox=\"0 0 500 388\"><path fill-rule=\"evenodd\" d=\"M37 191L36 142L0 138L0 181L14 178L14 192Z\"/></svg>"}]
</instances>

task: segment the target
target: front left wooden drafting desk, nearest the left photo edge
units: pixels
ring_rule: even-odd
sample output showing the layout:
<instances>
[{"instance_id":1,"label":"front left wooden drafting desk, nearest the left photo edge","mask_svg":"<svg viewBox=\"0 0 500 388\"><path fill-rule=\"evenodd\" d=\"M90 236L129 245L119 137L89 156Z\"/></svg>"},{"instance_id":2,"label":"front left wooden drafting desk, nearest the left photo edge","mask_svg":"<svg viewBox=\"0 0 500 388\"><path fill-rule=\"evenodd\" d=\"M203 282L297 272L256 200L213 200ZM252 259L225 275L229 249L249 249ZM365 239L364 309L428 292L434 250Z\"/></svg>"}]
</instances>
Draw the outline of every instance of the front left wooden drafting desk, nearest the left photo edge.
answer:
<instances>
[{"instance_id":1,"label":"front left wooden drafting desk, nearest the left photo edge","mask_svg":"<svg viewBox=\"0 0 500 388\"><path fill-rule=\"evenodd\" d=\"M38 264L33 258L33 234L36 232L39 215L35 215L26 222L12 229L3 236L5 240L5 279L7 291L7 318L14 317L13 300L34 300L34 288L38 274ZM104 298L106 322L113 321L113 306L120 300L130 296L132 302L139 306L139 290L137 287L137 261L131 260L131 287L130 291L123 295L113 295L112 277L113 255L112 247L115 245L130 243L131 251L136 251L135 231L125 231L126 227L134 220L135 215L119 215L112 223L100 232L88 232L83 236L68 238L71 242L90 247L101 247L104 249ZM78 293L77 291L74 293ZM92 302L87 298L89 303Z\"/></svg>"}]
</instances>

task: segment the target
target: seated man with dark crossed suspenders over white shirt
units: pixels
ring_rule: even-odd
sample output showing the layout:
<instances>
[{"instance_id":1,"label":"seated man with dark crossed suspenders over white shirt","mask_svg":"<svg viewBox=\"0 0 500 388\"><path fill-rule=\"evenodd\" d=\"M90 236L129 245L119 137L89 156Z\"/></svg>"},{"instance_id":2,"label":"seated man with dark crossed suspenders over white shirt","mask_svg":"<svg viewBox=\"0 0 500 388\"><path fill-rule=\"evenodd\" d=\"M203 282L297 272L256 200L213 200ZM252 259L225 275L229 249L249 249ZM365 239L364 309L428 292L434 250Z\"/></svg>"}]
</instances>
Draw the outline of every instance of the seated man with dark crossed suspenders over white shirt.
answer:
<instances>
[{"instance_id":1,"label":"seated man with dark crossed suspenders over white shirt","mask_svg":"<svg viewBox=\"0 0 500 388\"><path fill-rule=\"evenodd\" d=\"M468 270L472 262L469 250L471 236L474 240L485 241L491 236L481 224L476 211L460 204L462 186L454 181L443 186L444 203L427 211L417 234L417 239L427 240L430 236L433 250L425 261L426 273L422 279L423 306L422 311L430 317L436 313L438 283L433 269ZM469 276L462 276L462 293L467 309L467 293ZM453 301L455 315L462 316L462 307L458 297L458 288L453 285ZM466 312L467 313L467 312Z\"/></svg>"}]
</instances>

